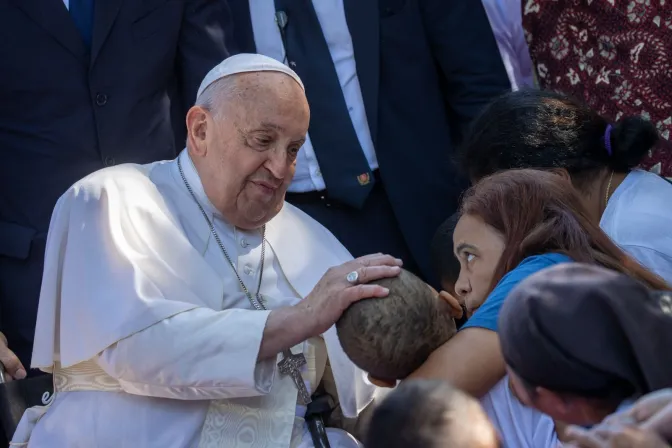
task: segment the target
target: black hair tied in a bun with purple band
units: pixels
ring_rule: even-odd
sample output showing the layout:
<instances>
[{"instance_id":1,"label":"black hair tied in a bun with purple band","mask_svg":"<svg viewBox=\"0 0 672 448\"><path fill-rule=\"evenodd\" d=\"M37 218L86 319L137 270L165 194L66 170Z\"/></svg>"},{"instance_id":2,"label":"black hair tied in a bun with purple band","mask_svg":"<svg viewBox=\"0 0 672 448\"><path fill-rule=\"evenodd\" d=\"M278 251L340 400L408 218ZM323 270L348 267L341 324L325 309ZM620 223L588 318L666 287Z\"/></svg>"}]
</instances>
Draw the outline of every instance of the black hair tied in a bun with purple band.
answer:
<instances>
[{"instance_id":1,"label":"black hair tied in a bun with purple band","mask_svg":"<svg viewBox=\"0 0 672 448\"><path fill-rule=\"evenodd\" d=\"M458 159L472 181L512 168L564 168L585 189L603 169L627 173L659 140L642 117L609 123L583 103L561 93L519 90L492 101L472 122Z\"/></svg>"}]
</instances>

